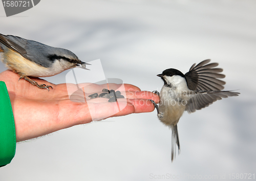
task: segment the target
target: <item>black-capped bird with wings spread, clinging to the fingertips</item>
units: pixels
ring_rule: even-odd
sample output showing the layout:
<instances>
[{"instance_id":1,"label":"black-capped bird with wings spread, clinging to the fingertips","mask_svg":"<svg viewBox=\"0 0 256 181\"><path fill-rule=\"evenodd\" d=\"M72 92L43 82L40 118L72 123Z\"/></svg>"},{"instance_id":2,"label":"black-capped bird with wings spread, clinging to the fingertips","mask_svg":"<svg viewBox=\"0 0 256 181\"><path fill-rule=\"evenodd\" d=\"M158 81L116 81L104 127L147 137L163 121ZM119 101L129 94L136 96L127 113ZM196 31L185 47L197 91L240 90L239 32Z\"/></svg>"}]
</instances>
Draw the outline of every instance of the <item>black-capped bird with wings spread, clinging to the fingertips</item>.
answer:
<instances>
[{"instance_id":1,"label":"black-capped bird with wings spread, clinging to the fingertips","mask_svg":"<svg viewBox=\"0 0 256 181\"><path fill-rule=\"evenodd\" d=\"M225 82L219 78L224 78L225 75L219 73L223 70L214 68L218 63L209 62L208 59L197 65L193 64L185 75L176 69L166 69L162 74L157 75L164 82L160 94L154 91L160 97L159 107L153 100L151 101L157 109L159 120L172 129L172 162L176 144L180 152L177 123L183 112L185 110L188 113L195 112L217 100L240 94L222 91Z\"/></svg>"}]
</instances>

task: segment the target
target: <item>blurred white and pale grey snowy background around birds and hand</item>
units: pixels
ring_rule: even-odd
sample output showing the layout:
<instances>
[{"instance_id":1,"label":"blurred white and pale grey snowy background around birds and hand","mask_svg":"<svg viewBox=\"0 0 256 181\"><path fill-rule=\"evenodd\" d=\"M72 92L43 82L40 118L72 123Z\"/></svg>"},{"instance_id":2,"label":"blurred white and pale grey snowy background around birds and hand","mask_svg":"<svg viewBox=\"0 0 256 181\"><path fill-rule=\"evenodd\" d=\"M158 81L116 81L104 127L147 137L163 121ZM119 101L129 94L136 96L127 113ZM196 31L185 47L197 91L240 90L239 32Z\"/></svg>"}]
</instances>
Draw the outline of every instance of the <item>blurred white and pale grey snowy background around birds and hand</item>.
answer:
<instances>
[{"instance_id":1,"label":"blurred white and pale grey snowy background around birds and hand","mask_svg":"<svg viewBox=\"0 0 256 181\"><path fill-rule=\"evenodd\" d=\"M228 180L232 173L255 173L255 7L245 0L44 0L6 17L0 4L0 33L71 50L85 62L100 59L107 78L160 90L156 75L163 70L186 73L210 58L224 69L225 89L241 92L185 112L178 124L181 154L173 163L171 131L155 110L19 143L0 180L168 180L170 174ZM46 80L65 83L66 74Z\"/></svg>"}]
</instances>

